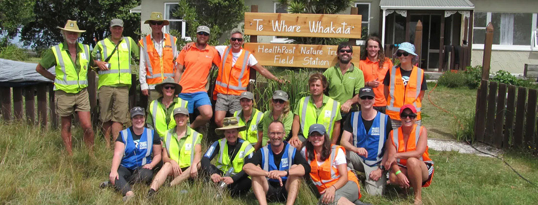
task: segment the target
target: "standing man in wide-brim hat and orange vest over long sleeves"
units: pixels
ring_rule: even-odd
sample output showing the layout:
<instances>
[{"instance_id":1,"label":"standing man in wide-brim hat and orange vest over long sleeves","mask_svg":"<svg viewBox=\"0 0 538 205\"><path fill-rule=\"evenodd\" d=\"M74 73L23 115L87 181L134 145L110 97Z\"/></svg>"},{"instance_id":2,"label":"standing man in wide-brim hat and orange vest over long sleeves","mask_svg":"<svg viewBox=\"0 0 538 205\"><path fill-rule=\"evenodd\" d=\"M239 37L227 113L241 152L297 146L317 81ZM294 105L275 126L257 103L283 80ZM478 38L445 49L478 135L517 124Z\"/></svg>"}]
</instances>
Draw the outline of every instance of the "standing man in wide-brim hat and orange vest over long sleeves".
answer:
<instances>
[{"instance_id":1,"label":"standing man in wide-brim hat and orange vest over long sleeves","mask_svg":"<svg viewBox=\"0 0 538 205\"><path fill-rule=\"evenodd\" d=\"M178 58L178 48L174 36L163 33L162 27L169 25L162 13L152 12L150 19L144 21L149 24L151 34L139 41L140 44L140 90L148 96L148 102L158 98L155 85L166 78L173 78L175 74L175 60Z\"/></svg>"}]
</instances>

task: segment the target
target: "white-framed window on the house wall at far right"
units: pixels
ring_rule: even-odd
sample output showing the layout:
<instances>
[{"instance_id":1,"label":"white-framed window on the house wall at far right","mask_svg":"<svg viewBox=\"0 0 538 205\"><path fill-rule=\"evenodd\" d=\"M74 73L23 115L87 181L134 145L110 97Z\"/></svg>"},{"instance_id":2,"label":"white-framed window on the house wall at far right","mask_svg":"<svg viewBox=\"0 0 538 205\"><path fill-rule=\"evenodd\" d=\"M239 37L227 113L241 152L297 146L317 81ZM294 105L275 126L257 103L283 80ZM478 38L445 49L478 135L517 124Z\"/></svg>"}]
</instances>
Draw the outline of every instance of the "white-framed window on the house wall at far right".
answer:
<instances>
[{"instance_id":1,"label":"white-framed window on the house wall at far right","mask_svg":"<svg viewBox=\"0 0 538 205\"><path fill-rule=\"evenodd\" d=\"M493 49L528 50L536 30L535 18L533 13L475 12L473 45L484 46L486 26L491 21Z\"/></svg>"}]
</instances>

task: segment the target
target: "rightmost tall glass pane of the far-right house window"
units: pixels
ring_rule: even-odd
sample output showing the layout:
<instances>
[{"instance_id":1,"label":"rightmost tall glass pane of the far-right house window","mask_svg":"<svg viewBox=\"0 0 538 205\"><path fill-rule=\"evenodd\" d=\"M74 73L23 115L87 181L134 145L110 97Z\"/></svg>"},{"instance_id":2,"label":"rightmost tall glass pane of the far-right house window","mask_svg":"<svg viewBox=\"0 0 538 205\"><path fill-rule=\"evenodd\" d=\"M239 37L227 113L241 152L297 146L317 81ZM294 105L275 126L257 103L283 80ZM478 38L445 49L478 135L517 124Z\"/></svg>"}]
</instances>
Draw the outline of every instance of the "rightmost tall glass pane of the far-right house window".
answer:
<instances>
[{"instance_id":1,"label":"rightmost tall glass pane of the far-right house window","mask_svg":"<svg viewBox=\"0 0 538 205\"><path fill-rule=\"evenodd\" d=\"M513 45L530 45L532 19L532 13L514 13Z\"/></svg>"}]
</instances>

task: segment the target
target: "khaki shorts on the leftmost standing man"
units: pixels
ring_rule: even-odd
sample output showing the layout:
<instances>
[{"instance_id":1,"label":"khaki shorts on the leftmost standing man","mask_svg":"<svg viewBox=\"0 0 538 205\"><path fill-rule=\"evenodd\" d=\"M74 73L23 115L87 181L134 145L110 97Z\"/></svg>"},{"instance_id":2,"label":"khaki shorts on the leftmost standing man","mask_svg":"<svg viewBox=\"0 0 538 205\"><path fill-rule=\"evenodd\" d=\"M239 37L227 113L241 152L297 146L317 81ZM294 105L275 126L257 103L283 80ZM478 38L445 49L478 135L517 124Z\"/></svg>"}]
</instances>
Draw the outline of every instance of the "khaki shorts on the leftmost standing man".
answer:
<instances>
[{"instance_id":1,"label":"khaki shorts on the leftmost standing man","mask_svg":"<svg viewBox=\"0 0 538 205\"><path fill-rule=\"evenodd\" d=\"M78 93L56 90L54 98L56 100L56 114L62 117L72 115L74 112L90 112L90 98L86 89L82 89Z\"/></svg>"}]
</instances>

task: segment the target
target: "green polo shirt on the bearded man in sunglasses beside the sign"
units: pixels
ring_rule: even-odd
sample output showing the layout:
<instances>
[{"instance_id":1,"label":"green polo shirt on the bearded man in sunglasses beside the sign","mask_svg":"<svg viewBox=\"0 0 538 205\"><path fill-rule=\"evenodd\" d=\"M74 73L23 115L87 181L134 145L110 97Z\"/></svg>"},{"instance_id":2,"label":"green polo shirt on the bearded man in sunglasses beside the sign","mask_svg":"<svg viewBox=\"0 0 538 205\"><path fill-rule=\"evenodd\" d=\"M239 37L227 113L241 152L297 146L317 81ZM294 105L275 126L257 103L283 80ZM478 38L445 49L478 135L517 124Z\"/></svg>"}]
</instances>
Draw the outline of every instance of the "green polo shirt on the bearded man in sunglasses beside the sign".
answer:
<instances>
[{"instance_id":1,"label":"green polo shirt on the bearded man in sunglasses beside the sign","mask_svg":"<svg viewBox=\"0 0 538 205\"><path fill-rule=\"evenodd\" d=\"M359 94L359 90L364 87L363 71L351 63L351 67L342 75L339 63L328 68L323 75L329 82L329 97L344 104L345 101Z\"/></svg>"}]
</instances>

